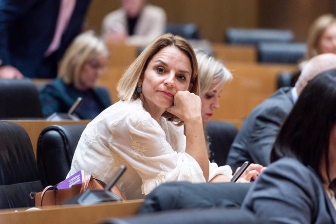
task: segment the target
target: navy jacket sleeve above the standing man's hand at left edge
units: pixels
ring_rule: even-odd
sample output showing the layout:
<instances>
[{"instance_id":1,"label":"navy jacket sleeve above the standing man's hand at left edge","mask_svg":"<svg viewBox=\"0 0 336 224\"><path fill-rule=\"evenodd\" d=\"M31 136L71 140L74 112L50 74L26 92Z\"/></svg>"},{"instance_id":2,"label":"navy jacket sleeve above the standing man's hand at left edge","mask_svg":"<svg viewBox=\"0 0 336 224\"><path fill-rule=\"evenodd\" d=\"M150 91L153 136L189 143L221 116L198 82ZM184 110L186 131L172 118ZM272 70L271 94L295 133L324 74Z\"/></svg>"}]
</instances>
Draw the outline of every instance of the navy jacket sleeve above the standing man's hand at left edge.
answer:
<instances>
[{"instance_id":1,"label":"navy jacket sleeve above the standing man's hand at left edge","mask_svg":"<svg viewBox=\"0 0 336 224\"><path fill-rule=\"evenodd\" d=\"M29 11L37 0L1 0L0 1L0 59L3 65L11 64L8 46L8 24Z\"/></svg>"}]
</instances>

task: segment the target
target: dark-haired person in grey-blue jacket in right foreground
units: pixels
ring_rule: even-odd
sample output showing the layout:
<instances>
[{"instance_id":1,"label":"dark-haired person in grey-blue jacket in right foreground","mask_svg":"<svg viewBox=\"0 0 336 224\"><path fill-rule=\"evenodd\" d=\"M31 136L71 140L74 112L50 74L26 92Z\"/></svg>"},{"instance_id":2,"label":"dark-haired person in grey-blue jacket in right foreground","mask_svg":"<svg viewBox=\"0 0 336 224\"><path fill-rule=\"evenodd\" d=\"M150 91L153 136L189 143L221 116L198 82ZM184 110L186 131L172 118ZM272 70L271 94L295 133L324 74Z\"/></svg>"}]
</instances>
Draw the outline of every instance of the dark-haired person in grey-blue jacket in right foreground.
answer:
<instances>
[{"instance_id":1,"label":"dark-haired person in grey-blue jacket in right foreground","mask_svg":"<svg viewBox=\"0 0 336 224\"><path fill-rule=\"evenodd\" d=\"M336 223L336 70L304 88L242 207L261 223Z\"/></svg>"}]
</instances>

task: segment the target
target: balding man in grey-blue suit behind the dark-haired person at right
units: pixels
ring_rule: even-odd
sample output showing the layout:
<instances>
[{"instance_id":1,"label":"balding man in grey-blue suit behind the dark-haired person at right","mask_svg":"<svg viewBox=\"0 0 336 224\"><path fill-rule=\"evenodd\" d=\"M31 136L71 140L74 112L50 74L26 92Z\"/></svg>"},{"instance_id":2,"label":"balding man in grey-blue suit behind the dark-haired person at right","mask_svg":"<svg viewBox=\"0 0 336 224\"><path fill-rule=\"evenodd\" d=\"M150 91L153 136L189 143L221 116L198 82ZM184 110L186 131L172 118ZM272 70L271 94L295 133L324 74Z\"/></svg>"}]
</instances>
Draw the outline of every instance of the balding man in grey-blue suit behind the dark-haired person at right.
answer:
<instances>
[{"instance_id":1,"label":"balding man in grey-blue suit behind the dark-haired person at right","mask_svg":"<svg viewBox=\"0 0 336 224\"><path fill-rule=\"evenodd\" d=\"M316 56L305 65L294 88L282 87L258 105L245 119L235 137L226 164L232 170L236 170L246 160L262 166L269 165L270 152L278 131L303 88L317 74L335 68L336 55Z\"/></svg>"}]
</instances>

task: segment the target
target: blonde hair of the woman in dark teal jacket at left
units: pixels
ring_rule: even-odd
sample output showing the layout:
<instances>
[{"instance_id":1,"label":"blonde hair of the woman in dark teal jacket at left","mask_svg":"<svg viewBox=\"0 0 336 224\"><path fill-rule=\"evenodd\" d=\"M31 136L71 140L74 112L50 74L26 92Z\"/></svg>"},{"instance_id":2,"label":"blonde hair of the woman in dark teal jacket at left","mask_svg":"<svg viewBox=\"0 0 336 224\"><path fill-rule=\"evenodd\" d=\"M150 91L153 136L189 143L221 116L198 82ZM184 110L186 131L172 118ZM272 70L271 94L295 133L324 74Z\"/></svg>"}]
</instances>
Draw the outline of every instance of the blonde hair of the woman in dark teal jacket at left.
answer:
<instances>
[{"instance_id":1,"label":"blonde hair of the woman in dark teal jacket at left","mask_svg":"<svg viewBox=\"0 0 336 224\"><path fill-rule=\"evenodd\" d=\"M78 35L66 50L58 69L58 78L65 83L78 83L79 72L83 64L101 56L109 56L104 40L92 30Z\"/></svg>"}]
</instances>

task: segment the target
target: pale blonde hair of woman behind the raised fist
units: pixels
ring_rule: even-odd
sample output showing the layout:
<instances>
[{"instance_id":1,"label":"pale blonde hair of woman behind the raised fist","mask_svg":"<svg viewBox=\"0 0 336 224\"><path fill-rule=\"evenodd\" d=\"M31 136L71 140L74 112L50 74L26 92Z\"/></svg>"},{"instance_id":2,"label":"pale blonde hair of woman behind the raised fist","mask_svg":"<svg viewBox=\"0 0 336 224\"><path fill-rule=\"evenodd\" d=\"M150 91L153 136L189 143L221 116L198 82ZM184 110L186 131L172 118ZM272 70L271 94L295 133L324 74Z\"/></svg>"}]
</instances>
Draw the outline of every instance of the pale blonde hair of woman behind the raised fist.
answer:
<instances>
[{"instance_id":1,"label":"pale blonde hair of woman behind the raised fist","mask_svg":"<svg viewBox=\"0 0 336 224\"><path fill-rule=\"evenodd\" d=\"M222 61L208 55L202 50L195 50L200 76L201 95L209 90L217 89L225 82L232 80L232 74L225 68Z\"/></svg>"}]
</instances>

